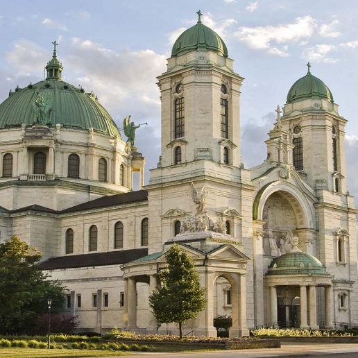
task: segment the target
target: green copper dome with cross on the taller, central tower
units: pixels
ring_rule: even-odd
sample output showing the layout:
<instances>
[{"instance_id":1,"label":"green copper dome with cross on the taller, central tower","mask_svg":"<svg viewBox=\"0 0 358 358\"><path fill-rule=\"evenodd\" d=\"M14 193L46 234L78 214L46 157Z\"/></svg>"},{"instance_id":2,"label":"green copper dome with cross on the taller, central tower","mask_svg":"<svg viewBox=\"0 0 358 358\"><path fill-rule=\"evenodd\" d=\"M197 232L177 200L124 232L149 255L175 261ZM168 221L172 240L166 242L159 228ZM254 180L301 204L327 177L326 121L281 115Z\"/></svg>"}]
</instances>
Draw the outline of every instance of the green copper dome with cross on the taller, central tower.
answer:
<instances>
[{"instance_id":1,"label":"green copper dome with cross on the taller, central tower","mask_svg":"<svg viewBox=\"0 0 358 358\"><path fill-rule=\"evenodd\" d=\"M184 31L174 42L171 57L180 56L189 51L215 51L228 57L228 49L221 37L201 22L201 11L197 12L198 23Z\"/></svg>"}]
</instances>

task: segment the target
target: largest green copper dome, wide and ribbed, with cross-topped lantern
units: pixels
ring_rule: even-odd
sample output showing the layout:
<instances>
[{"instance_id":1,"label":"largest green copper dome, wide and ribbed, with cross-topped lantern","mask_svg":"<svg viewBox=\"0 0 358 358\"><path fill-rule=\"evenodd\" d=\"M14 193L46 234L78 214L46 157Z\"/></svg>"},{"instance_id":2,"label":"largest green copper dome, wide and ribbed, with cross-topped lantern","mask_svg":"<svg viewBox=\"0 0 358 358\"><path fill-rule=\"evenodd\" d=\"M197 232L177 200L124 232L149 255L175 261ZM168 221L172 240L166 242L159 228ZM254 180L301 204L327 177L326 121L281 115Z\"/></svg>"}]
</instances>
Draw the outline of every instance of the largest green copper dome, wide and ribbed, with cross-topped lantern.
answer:
<instances>
[{"instance_id":1,"label":"largest green copper dome, wide and ribbed, with cross-topped lantern","mask_svg":"<svg viewBox=\"0 0 358 358\"><path fill-rule=\"evenodd\" d=\"M46 80L17 87L0 104L0 129L19 127L22 123L27 126L60 124L65 128L93 128L103 134L121 137L116 123L93 92L85 93L82 87L62 81L62 69L54 50L53 58L46 66Z\"/></svg>"}]
</instances>

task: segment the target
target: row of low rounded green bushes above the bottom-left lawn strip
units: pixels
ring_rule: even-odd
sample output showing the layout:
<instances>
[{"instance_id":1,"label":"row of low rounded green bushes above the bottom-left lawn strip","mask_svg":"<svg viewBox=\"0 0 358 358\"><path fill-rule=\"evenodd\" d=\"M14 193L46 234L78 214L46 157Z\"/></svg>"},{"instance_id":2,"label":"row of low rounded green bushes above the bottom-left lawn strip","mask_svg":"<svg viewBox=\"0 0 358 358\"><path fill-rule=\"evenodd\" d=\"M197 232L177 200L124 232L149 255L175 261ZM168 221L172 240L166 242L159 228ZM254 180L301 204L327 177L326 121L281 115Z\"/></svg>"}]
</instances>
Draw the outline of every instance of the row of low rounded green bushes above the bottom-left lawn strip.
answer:
<instances>
[{"instance_id":1,"label":"row of low rounded green bushes above the bottom-left lawn strip","mask_svg":"<svg viewBox=\"0 0 358 358\"><path fill-rule=\"evenodd\" d=\"M0 339L0 347L19 347L19 348L47 348L47 343L43 341L37 341L36 339L30 339L28 341L24 339ZM146 352L149 350L148 346L139 346L138 344L124 344L124 343L90 343L90 342L73 342L73 343L51 343L51 349L86 349L86 350L130 350Z\"/></svg>"}]
</instances>

